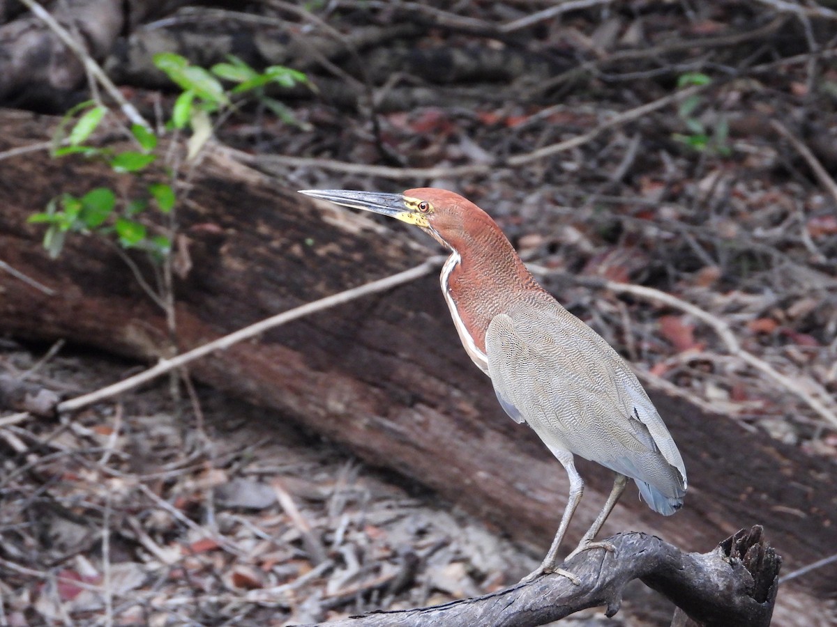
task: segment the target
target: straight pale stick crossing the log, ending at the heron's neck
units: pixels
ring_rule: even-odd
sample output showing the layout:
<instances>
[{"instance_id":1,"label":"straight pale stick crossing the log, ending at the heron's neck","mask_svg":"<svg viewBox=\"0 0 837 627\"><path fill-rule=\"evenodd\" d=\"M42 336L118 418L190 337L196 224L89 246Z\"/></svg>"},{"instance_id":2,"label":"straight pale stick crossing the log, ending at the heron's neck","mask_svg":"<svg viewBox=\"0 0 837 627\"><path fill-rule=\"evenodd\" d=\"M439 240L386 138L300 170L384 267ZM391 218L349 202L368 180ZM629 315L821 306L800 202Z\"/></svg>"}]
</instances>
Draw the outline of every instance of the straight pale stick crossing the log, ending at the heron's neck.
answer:
<instances>
[{"instance_id":1,"label":"straight pale stick crossing the log, ending at the heron's neck","mask_svg":"<svg viewBox=\"0 0 837 627\"><path fill-rule=\"evenodd\" d=\"M435 268L438 268L443 262L444 257L442 256L430 257L427 261L419 264L415 268L404 270L403 272L393 274L389 277L379 278L377 281L366 283L357 288L347 289L343 292L332 294L331 296L326 296L325 298L320 298L319 300L315 300L313 303L306 303L304 305L300 305L299 307L289 309L281 314L276 314L275 316L264 319L261 322L251 324L249 327L244 327L244 329L239 329L238 331L234 331L234 333L224 335L223 338L218 338L213 342L198 346L197 349L192 349L186 353L179 354L177 357L172 357L172 359L160 359L160 361L157 362L157 365L149 368L148 370L144 370L138 375L128 377L127 379L118 381L113 385L101 388L100 390L95 390L95 392L90 392L90 394L76 396L74 399L64 400L56 405L55 409L59 412L79 410L82 407L92 405L100 400L116 396L128 390L133 390L136 386L142 385L143 383L146 383L146 381L156 379L160 375L165 375L167 372L189 364L195 359L205 357L208 354L214 353L216 350L229 349L230 346L238 344L239 342L244 341L244 339L250 339L256 335L264 333L264 331L274 329L282 324L287 324L291 320L303 318L307 315L322 311L323 309L336 307L337 305L348 303L356 298L361 298L362 296L367 296L368 294L383 292L384 290L394 288L397 285L409 283L417 278L424 277L424 275L429 274Z\"/></svg>"}]
</instances>

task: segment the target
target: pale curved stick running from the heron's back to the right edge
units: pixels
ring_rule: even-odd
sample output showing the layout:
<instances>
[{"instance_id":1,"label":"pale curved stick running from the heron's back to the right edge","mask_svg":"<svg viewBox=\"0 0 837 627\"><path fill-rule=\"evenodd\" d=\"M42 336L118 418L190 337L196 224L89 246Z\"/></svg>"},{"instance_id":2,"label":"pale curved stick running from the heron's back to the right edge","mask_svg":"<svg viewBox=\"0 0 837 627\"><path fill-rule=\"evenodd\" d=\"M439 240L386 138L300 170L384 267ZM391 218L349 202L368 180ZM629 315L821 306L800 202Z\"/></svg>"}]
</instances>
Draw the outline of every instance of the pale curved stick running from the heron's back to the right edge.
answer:
<instances>
[{"instance_id":1,"label":"pale curved stick running from the heron's back to the right edge","mask_svg":"<svg viewBox=\"0 0 837 627\"><path fill-rule=\"evenodd\" d=\"M549 268L543 268L542 266L530 264L529 268L532 272L539 274L552 273ZM672 296L669 293L661 292L659 289L646 288L642 285L633 285L631 283L617 283L606 279L601 281L597 280L596 284L602 288L609 289L614 293L628 293L633 296L643 298L644 300L655 300L658 303L663 303L670 307L680 309L680 311L686 312L686 314L695 316L695 318L700 319L715 330L715 333L721 338L721 341L726 344L727 352L729 354L736 356L738 359L742 359L742 361L751 365L756 370L760 370L765 375L768 375L768 377L776 381L779 385L782 385L783 388L794 395L797 395L806 405L816 411L831 426L837 428L837 412L831 410L814 395L809 394L808 390L804 390L800 385L798 385L797 381L794 381L790 377L778 372L778 370L773 368L772 365L768 364L768 362L763 359L759 359L756 355L742 349L741 344L738 343L738 340L732 333L732 329L730 329L729 325L723 320L713 316L709 312L704 311L692 303L687 303L681 298Z\"/></svg>"}]
</instances>

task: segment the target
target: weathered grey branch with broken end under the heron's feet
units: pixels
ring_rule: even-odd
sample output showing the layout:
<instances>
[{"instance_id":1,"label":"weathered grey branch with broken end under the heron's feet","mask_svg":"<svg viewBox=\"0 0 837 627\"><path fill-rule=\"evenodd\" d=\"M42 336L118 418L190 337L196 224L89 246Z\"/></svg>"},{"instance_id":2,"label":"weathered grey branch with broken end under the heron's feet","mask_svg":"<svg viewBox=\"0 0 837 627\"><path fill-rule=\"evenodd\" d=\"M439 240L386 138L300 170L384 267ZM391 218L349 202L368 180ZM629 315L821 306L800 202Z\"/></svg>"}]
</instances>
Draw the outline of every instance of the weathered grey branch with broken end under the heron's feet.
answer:
<instances>
[{"instance_id":1,"label":"weathered grey branch with broken end under the heron's feet","mask_svg":"<svg viewBox=\"0 0 837 627\"><path fill-rule=\"evenodd\" d=\"M646 533L619 533L608 538L608 543L614 546L614 553L593 549L564 563L582 580L578 586L552 574L475 599L373 612L328 624L535 627L600 605L607 607L608 616L614 616L622 603L624 586L632 579L642 579L705 627L770 624L782 560L763 538L762 528L742 529L709 553L683 553Z\"/></svg>"}]
</instances>

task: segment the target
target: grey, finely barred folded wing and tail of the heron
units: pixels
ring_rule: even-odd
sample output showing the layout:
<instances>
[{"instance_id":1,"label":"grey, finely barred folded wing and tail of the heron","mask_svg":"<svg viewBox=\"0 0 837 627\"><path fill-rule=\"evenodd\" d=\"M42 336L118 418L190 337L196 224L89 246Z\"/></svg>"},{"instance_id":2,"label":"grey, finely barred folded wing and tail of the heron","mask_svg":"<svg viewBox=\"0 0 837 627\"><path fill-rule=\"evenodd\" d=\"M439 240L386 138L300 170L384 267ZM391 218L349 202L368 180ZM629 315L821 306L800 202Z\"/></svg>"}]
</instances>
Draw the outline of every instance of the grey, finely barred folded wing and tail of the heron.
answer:
<instances>
[{"instance_id":1,"label":"grey, finely barred folded wing and tail of the heron","mask_svg":"<svg viewBox=\"0 0 837 627\"><path fill-rule=\"evenodd\" d=\"M551 297L492 319L488 370L506 413L547 446L632 477L646 502L675 512L686 469L636 376L593 329Z\"/></svg>"}]
</instances>

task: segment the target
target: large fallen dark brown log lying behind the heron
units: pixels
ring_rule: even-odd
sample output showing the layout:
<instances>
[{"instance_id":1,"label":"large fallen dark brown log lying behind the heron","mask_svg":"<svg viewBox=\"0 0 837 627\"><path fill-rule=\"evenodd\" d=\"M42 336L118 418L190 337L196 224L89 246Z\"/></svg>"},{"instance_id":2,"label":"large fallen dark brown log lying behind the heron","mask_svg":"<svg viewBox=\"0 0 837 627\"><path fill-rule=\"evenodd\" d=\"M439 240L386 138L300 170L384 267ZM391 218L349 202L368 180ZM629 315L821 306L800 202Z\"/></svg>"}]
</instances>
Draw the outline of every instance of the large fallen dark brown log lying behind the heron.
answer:
<instances>
[{"instance_id":1,"label":"large fallen dark brown log lying behind the heron","mask_svg":"<svg viewBox=\"0 0 837 627\"><path fill-rule=\"evenodd\" d=\"M0 150L44 138L43 119L12 112L0 118L6 129ZM64 338L151 362L165 354L162 312L110 247L77 237L53 262L39 247L39 227L25 223L62 191L122 189L125 181L114 176L95 163L51 161L43 152L0 161L0 254L55 291L49 296L0 274L3 333ZM403 231L315 206L220 158L208 160L179 219L193 260L177 285L181 350L429 254ZM542 545L552 538L566 498L560 466L496 405L489 381L461 349L434 277L275 329L190 370L205 384L277 408L368 462L423 482L516 538ZM829 461L684 400L653 391L652 399L689 469L686 507L659 517L627 494L605 533L643 528L694 550L763 523L790 568L837 545L837 503L819 497L832 492ZM579 537L598 512L611 482L603 468L579 466L589 489L570 537ZM837 573L818 574L805 588L783 589L776 610L782 624L814 624L816 612L825 611L809 595L833 590Z\"/></svg>"}]
</instances>

